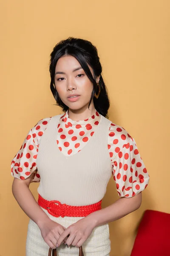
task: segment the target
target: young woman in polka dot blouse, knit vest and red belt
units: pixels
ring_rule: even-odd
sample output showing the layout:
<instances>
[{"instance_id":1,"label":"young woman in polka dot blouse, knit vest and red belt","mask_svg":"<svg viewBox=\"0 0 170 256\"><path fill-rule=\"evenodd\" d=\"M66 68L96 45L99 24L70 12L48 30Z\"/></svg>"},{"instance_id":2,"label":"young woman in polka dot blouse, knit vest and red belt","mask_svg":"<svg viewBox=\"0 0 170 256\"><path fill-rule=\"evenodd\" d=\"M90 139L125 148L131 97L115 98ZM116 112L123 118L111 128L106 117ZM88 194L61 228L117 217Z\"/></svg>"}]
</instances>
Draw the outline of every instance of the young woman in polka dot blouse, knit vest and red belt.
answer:
<instances>
[{"instance_id":1,"label":"young woman in polka dot blouse, knit vest and red belt","mask_svg":"<svg viewBox=\"0 0 170 256\"><path fill-rule=\"evenodd\" d=\"M108 222L141 205L149 175L133 137L108 119L102 67L91 42L68 38L51 52L51 92L63 114L41 119L11 162L12 191L30 218L26 256L108 256ZM102 209L113 175L120 198ZM29 184L40 182L38 202ZM67 246L66 246L67 245Z\"/></svg>"}]
</instances>

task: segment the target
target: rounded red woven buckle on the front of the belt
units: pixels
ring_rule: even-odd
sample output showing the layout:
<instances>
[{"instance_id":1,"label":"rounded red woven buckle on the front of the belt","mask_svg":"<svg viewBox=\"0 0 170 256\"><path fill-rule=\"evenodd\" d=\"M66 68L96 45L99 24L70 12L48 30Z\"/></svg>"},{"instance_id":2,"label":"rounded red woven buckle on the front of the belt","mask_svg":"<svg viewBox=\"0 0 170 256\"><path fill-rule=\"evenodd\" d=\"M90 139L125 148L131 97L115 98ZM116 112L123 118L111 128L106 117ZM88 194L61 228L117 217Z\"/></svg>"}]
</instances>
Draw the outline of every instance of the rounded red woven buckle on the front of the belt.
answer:
<instances>
[{"instance_id":1,"label":"rounded red woven buckle on the front of the belt","mask_svg":"<svg viewBox=\"0 0 170 256\"><path fill-rule=\"evenodd\" d=\"M64 209L66 204L61 204L60 201L49 201L47 211L49 214L53 215L54 217L61 216L62 218L65 217ZM52 211L54 209L54 212Z\"/></svg>"}]
</instances>

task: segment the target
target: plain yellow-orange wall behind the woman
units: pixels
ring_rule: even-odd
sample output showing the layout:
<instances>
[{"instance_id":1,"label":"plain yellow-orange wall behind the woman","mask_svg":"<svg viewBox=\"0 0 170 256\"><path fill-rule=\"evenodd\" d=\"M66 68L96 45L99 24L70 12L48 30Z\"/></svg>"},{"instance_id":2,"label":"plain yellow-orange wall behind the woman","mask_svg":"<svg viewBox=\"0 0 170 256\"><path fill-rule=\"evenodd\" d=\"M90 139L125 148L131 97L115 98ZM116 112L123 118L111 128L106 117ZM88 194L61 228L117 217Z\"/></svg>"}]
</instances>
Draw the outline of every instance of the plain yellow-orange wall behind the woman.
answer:
<instances>
[{"instance_id":1,"label":"plain yellow-orange wall behind the woman","mask_svg":"<svg viewBox=\"0 0 170 256\"><path fill-rule=\"evenodd\" d=\"M62 113L48 63L55 44L68 36L96 45L109 119L135 138L150 174L141 207L109 223L111 256L130 256L144 210L170 213L170 1L6 0L0 9L0 256L25 255L28 217L12 195L10 164L40 119ZM37 186L30 186L35 198ZM112 177L103 207L117 198Z\"/></svg>"}]
</instances>

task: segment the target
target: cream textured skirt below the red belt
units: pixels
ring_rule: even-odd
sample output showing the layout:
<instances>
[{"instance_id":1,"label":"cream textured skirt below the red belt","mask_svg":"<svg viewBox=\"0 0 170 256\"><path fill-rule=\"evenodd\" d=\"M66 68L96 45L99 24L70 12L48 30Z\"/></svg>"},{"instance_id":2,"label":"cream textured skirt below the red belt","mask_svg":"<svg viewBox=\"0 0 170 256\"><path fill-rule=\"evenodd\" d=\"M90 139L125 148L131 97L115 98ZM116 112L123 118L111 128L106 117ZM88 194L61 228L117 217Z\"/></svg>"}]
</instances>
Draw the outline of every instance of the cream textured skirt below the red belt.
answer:
<instances>
[{"instance_id":1,"label":"cream textured skirt below the red belt","mask_svg":"<svg viewBox=\"0 0 170 256\"><path fill-rule=\"evenodd\" d=\"M65 228L84 217L54 217L45 209L45 213L51 220L61 224ZM109 239L109 225L104 224L95 227L88 239L82 244L84 256L109 256L111 251L111 241ZM26 256L48 256L49 246L41 236L41 231L37 224L30 220L26 239ZM78 256L79 248L75 246L67 247L61 244L57 248L57 256Z\"/></svg>"}]
</instances>

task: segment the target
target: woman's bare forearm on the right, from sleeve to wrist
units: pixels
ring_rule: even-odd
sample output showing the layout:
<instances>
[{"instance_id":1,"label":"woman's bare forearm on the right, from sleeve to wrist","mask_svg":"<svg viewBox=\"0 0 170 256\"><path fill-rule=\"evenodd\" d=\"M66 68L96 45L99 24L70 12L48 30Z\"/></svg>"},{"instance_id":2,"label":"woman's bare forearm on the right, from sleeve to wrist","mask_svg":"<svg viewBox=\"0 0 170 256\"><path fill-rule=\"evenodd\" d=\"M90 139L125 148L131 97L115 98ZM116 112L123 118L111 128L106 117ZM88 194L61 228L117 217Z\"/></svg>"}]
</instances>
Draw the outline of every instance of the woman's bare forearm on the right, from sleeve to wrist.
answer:
<instances>
[{"instance_id":1,"label":"woman's bare forearm on the right, from sleeve to wrist","mask_svg":"<svg viewBox=\"0 0 170 256\"><path fill-rule=\"evenodd\" d=\"M119 198L115 203L99 211L92 212L85 218L93 223L94 227L116 221L130 212L138 209L142 202L142 192L131 198Z\"/></svg>"}]
</instances>

